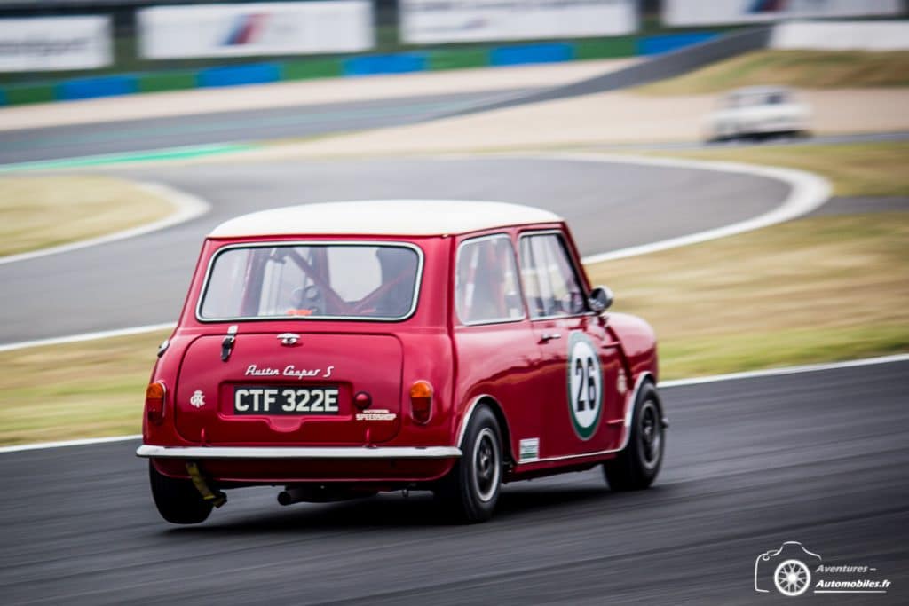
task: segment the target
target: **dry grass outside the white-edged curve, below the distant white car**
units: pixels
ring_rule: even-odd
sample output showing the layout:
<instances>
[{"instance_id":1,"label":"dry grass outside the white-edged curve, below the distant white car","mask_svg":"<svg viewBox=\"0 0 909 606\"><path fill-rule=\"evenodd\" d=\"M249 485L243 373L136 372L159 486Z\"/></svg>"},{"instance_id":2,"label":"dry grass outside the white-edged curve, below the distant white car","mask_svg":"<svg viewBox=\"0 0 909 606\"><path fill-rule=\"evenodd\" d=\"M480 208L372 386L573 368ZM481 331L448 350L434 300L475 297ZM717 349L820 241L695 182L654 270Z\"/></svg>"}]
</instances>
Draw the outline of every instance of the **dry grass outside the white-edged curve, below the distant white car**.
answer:
<instances>
[{"instance_id":1,"label":"dry grass outside the white-edged curve, below the distant white car","mask_svg":"<svg viewBox=\"0 0 909 606\"><path fill-rule=\"evenodd\" d=\"M830 179L834 184L834 195L909 195L909 142L906 141L749 145L654 154L798 168Z\"/></svg>"}]
</instances>

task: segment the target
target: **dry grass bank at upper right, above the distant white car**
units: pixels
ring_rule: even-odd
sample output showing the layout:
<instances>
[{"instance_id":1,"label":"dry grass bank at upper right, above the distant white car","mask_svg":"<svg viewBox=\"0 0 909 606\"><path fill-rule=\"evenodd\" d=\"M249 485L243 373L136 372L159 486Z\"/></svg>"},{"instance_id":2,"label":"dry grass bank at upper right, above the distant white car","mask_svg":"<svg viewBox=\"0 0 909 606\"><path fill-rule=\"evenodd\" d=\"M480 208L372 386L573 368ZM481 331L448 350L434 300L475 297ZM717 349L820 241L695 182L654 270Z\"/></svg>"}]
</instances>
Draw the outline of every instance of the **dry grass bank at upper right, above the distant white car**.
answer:
<instances>
[{"instance_id":1,"label":"dry grass bank at upper right, above the distant white car","mask_svg":"<svg viewBox=\"0 0 909 606\"><path fill-rule=\"evenodd\" d=\"M756 51L635 89L643 94L719 93L739 86L800 88L909 85L909 52Z\"/></svg>"}]
</instances>

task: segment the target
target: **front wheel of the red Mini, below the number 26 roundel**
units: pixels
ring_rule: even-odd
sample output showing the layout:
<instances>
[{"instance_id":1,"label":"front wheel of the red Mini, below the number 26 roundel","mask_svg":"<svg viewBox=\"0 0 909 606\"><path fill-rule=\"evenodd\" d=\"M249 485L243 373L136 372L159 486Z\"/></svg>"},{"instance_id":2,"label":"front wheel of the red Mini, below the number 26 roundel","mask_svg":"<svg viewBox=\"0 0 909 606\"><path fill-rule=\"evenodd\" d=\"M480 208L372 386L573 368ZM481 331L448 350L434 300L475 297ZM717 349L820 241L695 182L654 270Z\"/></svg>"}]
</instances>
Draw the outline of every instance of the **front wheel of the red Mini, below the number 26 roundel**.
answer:
<instances>
[{"instance_id":1,"label":"front wheel of the red Mini, below the number 26 roundel","mask_svg":"<svg viewBox=\"0 0 909 606\"><path fill-rule=\"evenodd\" d=\"M603 463L609 487L614 491L639 491L650 486L663 465L665 449L663 406L656 387L647 382L637 394L628 443L618 456Z\"/></svg>"}]
</instances>

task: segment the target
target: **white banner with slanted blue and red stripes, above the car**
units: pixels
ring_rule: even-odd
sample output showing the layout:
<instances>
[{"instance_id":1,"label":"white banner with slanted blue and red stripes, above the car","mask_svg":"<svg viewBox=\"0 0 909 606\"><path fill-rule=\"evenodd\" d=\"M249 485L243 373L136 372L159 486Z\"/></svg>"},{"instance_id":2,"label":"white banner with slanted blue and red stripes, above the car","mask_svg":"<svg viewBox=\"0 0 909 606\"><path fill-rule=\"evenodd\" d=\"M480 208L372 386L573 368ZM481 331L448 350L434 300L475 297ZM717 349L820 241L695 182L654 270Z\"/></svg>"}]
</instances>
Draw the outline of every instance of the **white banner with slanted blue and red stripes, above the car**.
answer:
<instances>
[{"instance_id":1,"label":"white banner with slanted blue and red stripes, above the car","mask_svg":"<svg viewBox=\"0 0 909 606\"><path fill-rule=\"evenodd\" d=\"M353 53L374 40L369 0L153 6L137 18L147 59Z\"/></svg>"}]
</instances>

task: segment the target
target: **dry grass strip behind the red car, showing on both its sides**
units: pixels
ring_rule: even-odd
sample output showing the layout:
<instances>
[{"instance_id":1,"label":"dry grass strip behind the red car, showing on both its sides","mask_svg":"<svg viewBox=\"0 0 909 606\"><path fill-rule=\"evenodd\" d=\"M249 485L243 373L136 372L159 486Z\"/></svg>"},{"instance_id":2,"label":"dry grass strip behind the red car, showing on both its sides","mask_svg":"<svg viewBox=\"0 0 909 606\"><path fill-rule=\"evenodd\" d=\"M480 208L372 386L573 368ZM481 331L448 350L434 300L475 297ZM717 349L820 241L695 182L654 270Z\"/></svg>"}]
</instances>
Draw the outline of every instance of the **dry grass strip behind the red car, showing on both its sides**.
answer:
<instances>
[{"instance_id":1,"label":"dry grass strip behind the red car, showing on both its sides","mask_svg":"<svg viewBox=\"0 0 909 606\"><path fill-rule=\"evenodd\" d=\"M817 217L598 263L663 378L909 351L909 214ZM139 432L166 333L0 353L0 444Z\"/></svg>"}]
</instances>

